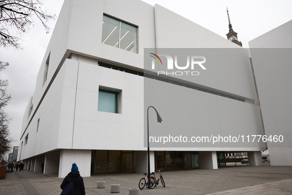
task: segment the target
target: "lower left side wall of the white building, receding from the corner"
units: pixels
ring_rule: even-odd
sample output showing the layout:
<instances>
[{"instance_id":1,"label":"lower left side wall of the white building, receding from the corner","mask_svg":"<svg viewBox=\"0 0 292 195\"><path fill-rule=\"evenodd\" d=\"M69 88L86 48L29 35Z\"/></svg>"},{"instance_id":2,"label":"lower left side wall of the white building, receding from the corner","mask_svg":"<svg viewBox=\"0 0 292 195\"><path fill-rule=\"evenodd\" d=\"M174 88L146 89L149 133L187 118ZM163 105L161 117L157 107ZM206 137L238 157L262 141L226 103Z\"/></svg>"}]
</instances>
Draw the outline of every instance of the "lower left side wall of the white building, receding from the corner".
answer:
<instances>
[{"instance_id":1,"label":"lower left side wall of the white building, receding from the corner","mask_svg":"<svg viewBox=\"0 0 292 195\"><path fill-rule=\"evenodd\" d=\"M58 148L59 137L57 135L59 133L65 67L63 66L59 71L59 74L47 91L38 111L20 140L20 142L24 141L21 159ZM37 132L39 119L39 129ZM27 135L28 141L25 144L25 137ZM66 139L70 140L70 134L67 135Z\"/></svg>"}]
</instances>

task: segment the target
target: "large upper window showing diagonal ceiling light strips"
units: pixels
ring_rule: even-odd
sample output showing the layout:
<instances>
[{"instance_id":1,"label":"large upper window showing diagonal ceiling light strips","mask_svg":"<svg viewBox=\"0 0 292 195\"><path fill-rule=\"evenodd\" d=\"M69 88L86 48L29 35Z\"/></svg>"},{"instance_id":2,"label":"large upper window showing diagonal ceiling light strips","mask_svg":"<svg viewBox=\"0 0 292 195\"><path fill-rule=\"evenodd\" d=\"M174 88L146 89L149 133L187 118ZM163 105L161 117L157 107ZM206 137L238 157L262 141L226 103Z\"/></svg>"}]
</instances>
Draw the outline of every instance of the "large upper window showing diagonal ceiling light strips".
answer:
<instances>
[{"instance_id":1,"label":"large upper window showing diagonal ceiling light strips","mask_svg":"<svg viewBox=\"0 0 292 195\"><path fill-rule=\"evenodd\" d=\"M137 27L104 15L101 43L137 53Z\"/></svg>"}]
</instances>

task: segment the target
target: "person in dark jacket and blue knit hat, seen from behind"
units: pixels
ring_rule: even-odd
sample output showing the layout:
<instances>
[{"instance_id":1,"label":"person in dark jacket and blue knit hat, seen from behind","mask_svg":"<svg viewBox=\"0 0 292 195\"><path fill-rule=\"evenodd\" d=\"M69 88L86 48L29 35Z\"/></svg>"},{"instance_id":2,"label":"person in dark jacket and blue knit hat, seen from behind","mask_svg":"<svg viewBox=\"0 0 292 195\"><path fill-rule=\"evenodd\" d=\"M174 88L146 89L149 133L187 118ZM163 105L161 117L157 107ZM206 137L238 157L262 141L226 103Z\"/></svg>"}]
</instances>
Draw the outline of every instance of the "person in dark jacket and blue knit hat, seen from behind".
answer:
<instances>
[{"instance_id":1,"label":"person in dark jacket and blue knit hat, seen from behind","mask_svg":"<svg viewBox=\"0 0 292 195\"><path fill-rule=\"evenodd\" d=\"M75 187L74 187L74 195L85 195L85 187L83 183L83 178L79 174L80 172L78 171L78 166L76 163L72 164L71 172L68 173L68 175L64 178L62 184L61 184L61 189L63 190L67 184L71 182L74 182Z\"/></svg>"}]
</instances>

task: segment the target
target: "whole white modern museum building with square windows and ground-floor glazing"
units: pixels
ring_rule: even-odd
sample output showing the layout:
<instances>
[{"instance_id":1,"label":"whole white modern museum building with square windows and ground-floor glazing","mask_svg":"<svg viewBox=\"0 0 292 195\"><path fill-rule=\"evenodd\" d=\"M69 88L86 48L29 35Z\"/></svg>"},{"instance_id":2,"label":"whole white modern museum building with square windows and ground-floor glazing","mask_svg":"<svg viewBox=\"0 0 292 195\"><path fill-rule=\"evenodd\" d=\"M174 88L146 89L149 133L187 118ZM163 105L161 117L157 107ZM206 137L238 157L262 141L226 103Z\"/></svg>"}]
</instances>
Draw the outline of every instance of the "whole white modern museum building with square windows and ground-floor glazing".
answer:
<instances>
[{"instance_id":1,"label":"whole white modern museum building with square windows and ground-floor glazing","mask_svg":"<svg viewBox=\"0 0 292 195\"><path fill-rule=\"evenodd\" d=\"M145 49L165 63L159 49L182 48L206 56L206 69L194 67L200 75L158 77L150 69L152 76L145 77ZM211 57L206 49L228 52ZM145 90L145 82L163 90ZM200 130L246 138L263 135L256 100L248 51L208 29L140 0L65 0L23 117L17 160L31 171L40 171L44 161L44 173L61 178L74 162L83 177L144 173L147 106L163 118L157 123L149 110L152 133ZM190 120L180 121L176 113ZM265 149L257 142L151 146L151 171L217 169L225 165L224 152L248 152L250 165L261 165Z\"/></svg>"}]
</instances>

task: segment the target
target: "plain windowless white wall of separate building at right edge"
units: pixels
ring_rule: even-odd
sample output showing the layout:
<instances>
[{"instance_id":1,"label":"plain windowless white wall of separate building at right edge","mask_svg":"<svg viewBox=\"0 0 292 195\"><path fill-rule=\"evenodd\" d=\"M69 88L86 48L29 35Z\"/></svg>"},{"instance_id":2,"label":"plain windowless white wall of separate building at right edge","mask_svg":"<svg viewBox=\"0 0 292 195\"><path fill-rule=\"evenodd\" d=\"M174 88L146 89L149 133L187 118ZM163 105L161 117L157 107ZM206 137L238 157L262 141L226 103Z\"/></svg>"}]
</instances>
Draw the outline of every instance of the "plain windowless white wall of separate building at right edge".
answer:
<instances>
[{"instance_id":1,"label":"plain windowless white wall of separate building at right edge","mask_svg":"<svg viewBox=\"0 0 292 195\"><path fill-rule=\"evenodd\" d=\"M267 142L276 166L292 166L291 34L292 20L249 42L266 135L284 138Z\"/></svg>"}]
</instances>

